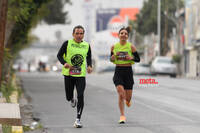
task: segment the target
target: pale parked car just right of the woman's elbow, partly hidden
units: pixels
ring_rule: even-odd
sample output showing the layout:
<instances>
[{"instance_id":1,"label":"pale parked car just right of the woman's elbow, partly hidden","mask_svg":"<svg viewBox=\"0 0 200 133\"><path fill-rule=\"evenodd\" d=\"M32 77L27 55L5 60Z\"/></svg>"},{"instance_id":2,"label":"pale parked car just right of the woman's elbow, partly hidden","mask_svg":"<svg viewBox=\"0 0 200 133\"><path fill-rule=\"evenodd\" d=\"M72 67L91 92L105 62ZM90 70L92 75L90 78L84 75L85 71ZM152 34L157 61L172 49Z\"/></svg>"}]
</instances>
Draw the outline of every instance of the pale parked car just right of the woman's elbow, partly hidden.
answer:
<instances>
[{"instance_id":1,"label":"pale parked car just right of the woman's elbow, partly hidden","mask_svg":"<svg viewBox=\"0 0 200 133\"><path fill-rule=\"evenodd\" d=\"M149 75L150 65L146 63L135 63L133 65L134 74Z\"/></svg>"}]
</instances>

